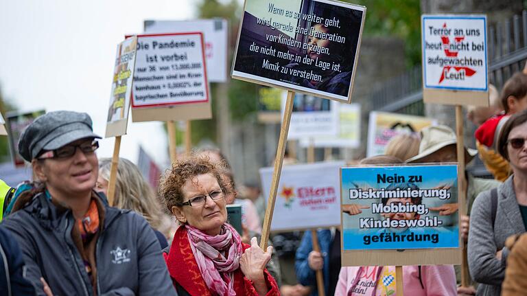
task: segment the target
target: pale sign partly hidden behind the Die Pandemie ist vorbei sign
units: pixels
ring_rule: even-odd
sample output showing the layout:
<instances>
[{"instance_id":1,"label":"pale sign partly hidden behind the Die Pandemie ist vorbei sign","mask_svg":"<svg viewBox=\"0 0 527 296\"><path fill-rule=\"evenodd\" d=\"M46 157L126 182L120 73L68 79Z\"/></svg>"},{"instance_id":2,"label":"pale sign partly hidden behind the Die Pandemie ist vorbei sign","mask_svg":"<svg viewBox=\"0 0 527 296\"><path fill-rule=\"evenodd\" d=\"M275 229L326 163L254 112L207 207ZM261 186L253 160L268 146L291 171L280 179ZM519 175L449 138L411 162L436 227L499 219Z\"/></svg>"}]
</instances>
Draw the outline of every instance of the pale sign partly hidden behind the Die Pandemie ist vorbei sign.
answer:
<instances>
[{"instance_id":1,"label":"pale sign partly hidden behind the Die Pandemie ist vorbei sign","mask_svg":"<svg viewBox=\"0 0 527 296\"><path fill-rule=\"evenodd\" d=\"M145 33L189 33L202 32L209 82L227 80L227 40L226 19L197 19L192 21L145 21Z\"/></svg>"}]
</instances>

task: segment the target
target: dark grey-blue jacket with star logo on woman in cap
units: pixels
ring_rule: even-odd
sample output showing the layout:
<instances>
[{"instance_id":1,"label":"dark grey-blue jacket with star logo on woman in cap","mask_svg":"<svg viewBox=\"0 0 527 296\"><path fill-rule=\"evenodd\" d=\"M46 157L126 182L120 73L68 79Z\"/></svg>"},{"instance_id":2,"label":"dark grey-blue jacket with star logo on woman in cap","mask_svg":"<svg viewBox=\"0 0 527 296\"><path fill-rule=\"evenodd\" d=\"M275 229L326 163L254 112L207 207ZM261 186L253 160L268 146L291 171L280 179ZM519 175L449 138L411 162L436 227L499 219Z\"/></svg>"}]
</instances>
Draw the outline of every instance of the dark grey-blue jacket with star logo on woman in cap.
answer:
<instances>
[{"instance_id":1,"label":"dark grey-blue jacket with star logo on woman in cap","mask_svg":"<svg viewBox=\"0 0 527 296\"><path fill-rule=\"evenodd\" d=\"M130 210L103 205L104 225L95 247L97 295L177 295L152 227ZM40 277L54 295L93 295L71 238L74 223L71 210L59 212L45 194L5 218L3 226L20 244L37 295L44 295Z\"/></svg>"}]
</instances>

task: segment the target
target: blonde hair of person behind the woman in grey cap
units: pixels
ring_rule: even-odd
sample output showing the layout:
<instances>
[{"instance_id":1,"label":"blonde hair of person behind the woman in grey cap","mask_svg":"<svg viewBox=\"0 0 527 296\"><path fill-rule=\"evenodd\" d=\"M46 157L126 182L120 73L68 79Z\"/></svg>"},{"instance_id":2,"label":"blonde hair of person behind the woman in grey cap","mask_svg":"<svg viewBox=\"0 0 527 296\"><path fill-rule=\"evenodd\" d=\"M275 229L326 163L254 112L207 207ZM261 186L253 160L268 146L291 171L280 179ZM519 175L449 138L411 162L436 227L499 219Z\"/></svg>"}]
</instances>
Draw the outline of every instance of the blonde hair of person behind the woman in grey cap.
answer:
<instances>
[{"instance_id":1,"label":"blonde hair of person behind the woman in grey cap","mask_svg":"<svg viewBox=\"0 0 527 296\"><path fill-rule=\"evenodd\" d=\"M99 160L99 176L106 181L110 179L111 165L110 158ZM163 212L154 190L143 178L139 168L128 159L119 158L113 206L119 209L131 209L140 214L156 230L162 225Z\"/></svg>"}]
</instances>

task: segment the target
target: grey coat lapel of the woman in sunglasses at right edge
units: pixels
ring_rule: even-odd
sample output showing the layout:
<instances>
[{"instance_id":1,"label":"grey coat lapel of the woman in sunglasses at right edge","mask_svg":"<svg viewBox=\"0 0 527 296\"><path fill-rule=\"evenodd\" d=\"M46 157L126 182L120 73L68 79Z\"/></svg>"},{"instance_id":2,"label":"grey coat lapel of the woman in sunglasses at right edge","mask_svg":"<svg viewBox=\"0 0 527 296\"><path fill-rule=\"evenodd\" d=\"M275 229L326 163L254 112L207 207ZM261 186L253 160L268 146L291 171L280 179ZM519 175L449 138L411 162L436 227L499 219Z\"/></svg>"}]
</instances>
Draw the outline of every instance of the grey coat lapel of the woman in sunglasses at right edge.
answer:
<instances>
[{"instance_id":1,"label":"grey coat lapel of the woman in sunglasses at right edge","mask_svg":"<svg viewBox=\"0 0 527 296\"><path fill-rule=\"evenodd\" d=\"M524 220L522 213L519 212L518 201L516 200L516 193L514 192L514 175L508 177L506 181L498 187L498 207L502 207L508 222L515 233L525 232Z\"/></svg>"}]
</instances>

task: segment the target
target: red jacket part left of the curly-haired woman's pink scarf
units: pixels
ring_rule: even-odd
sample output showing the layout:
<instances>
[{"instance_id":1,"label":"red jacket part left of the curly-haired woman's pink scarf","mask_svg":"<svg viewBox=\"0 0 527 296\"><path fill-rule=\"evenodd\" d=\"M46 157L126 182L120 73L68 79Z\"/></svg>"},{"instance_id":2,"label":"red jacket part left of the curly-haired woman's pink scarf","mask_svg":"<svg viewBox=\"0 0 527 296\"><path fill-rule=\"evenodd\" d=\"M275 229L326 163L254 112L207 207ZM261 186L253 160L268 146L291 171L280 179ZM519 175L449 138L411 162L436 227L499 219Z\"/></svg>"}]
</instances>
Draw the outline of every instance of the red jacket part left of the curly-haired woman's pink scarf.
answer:
<instances>
[{"instance_id":1,"label":"red jacket part left of the curly-haired woman's pink scarf","mask_svg":"<svg viewBox=\"0 0 527 296\"><path fill-rule=\"evenodd\" d=\"M165 255L165 261L170 276L190 295L211 295L190 248L184 226L180 226L176 231L170 251Z\"/></svg>"}]
</instances>

